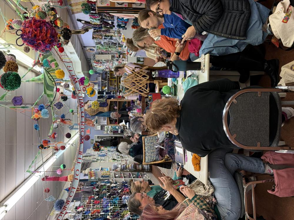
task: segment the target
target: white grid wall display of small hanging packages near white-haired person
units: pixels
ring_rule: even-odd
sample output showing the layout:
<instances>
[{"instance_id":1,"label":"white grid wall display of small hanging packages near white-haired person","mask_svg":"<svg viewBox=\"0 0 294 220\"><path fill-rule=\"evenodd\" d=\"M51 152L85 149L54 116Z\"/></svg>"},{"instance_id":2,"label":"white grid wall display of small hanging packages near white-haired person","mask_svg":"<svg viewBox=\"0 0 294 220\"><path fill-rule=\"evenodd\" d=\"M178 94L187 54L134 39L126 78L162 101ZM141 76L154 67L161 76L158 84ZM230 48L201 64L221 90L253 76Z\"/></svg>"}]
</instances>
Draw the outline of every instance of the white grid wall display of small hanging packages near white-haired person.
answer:
<instances>
[{"instance_id":1,"label":"white grid wall display of small hanging packages near white-haired person","mask_svg":"<svg viewBox=\"0 0 294 220\"><path fill-rule=\"evenodd\" d=\"M99 152L93 151L93 149L87 149L87 154L91 154L93 156L83 157L88 160L96 160L97 162L118 162L118 163L126 163L127 161L131 161L131 158L127 155L120 154L116 152L115 147L113 146L101 146L101 150ZM105 156L100 156L105 155Z\"/></svg>"}]
</instances>

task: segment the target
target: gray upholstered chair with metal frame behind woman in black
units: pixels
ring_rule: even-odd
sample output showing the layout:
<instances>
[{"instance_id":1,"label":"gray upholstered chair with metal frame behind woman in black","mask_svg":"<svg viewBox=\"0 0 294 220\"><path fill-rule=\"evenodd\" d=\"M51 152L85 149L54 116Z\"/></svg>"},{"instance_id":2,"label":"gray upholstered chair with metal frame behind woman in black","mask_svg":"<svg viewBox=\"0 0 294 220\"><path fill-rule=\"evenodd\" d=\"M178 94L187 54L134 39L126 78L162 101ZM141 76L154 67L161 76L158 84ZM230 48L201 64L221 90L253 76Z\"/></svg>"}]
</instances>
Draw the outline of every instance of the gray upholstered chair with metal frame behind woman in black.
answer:
<instances>
[{"instance_id":1,"label":"gray upholstered chair with metal frame behind woman in black","mask_svg":"<svg viewBox=\"0 0 294 220\"><path fill-rule=\"evenodd\" d=\"M282 105L276 89L243 89L234 94L223 111L223 127L230 141L247 150L294 150L280 146Z\"/></svg>"}]
</instances>

